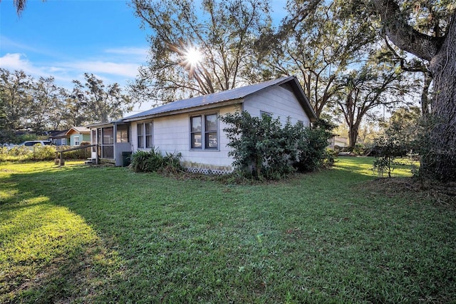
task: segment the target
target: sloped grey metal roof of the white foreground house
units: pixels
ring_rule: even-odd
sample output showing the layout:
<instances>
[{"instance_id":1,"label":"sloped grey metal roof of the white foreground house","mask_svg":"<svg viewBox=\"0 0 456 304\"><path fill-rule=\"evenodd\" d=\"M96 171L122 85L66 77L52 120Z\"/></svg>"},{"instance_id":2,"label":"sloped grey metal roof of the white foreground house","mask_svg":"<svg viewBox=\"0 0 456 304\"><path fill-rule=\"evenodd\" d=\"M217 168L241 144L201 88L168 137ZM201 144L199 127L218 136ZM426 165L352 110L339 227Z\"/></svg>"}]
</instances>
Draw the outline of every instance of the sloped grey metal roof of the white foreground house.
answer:
<instances>
[{"instance_id":1,"label":"sloped grey metal roof of the white foreground house","mask_svg":"<svg viewBox=\"0 0 456 304\"><path fill-rule=\"evenodd\" d=\"M124 117L124 121L134 121L137 118L142 118L145 116L155 116L159 115L162 113L168 113L168 112L173 112L173 111L180 111L180 110L185 110L185 109L190 109L190 108L197 108L200 106L207 106L213 103L221 103L223 101L235 101L239 100L242 98L245 98L249 95L252 95L254 93L258 93L259 91L264 90L265 88L269 88L271 86L276 86L282 83L286 83L288 81L293 81L295 84L298 83L296 78L294 76L286 76L270 81L264 81L262 83L257 83L251 86L243 86L241 88L233 88L232 90L229 91L221 91L218 93L212 93L212 94L207 94L203 96L197 96L193 98L187 98L187 99L182 99L180 101L174 101L172 103L166 103L163 106L158 106L157 108L151 108L150 110L143 111L141 113L134 114L132 116ZM299 89L301 91L301 94L304 96L304 92L302 92L301 86L299 86ZM312 116L315 115L313 113L313 110L310 107L309 101L307 98L305 98L305 103L306 107L308 106L309 109L306 109L306 112L310 111L311 113L308 115ZM313 114L312 114L313 113Z\"/></svg>"}]
</instances>

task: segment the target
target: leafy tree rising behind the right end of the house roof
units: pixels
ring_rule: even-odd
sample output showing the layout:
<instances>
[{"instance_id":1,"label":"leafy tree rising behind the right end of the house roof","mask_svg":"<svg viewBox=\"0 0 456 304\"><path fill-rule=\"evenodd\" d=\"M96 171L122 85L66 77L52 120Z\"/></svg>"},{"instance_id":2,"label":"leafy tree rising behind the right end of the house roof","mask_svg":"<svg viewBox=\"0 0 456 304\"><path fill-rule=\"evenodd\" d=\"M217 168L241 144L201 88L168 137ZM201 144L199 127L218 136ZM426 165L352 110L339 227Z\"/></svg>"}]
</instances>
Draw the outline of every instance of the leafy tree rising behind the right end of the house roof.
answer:
<instances>
[{"instance_id":1,"label":"leafy tree rising behind the right end of the house roof","mask_svg":"<svg viewBox=\"0 0 456 304\"><path fill-rule=\"evenodd\" d=\"M279 29L260 37L259 55L271 74L296 74L320 117L343 90L337 79L378 39L371 14L340 0L289 0L286 9Z\"/></svg>"}]
</instances>

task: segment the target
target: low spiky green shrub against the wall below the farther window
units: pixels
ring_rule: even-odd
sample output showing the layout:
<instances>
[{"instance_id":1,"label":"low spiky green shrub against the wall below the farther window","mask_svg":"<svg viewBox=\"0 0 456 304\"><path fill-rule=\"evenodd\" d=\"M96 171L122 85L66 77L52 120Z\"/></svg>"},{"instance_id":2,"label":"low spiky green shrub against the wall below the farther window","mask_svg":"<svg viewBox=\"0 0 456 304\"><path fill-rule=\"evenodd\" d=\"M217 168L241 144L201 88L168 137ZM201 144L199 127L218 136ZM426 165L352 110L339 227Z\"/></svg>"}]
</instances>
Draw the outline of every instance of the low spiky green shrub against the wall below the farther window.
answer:
<instances>
[{"instance_id":1,"label":"low spiky green shrub against the wall below the farther window","mask_svg":"<svg viewBox=\"0 0 456 304\"><path fill-rule=\"evenodd\" d=\"M162 172L183 170L180 164L181 153L162 153L155 148L138 151L131 156L130 168L135 172Z\"/></svg>"}]
</instances>

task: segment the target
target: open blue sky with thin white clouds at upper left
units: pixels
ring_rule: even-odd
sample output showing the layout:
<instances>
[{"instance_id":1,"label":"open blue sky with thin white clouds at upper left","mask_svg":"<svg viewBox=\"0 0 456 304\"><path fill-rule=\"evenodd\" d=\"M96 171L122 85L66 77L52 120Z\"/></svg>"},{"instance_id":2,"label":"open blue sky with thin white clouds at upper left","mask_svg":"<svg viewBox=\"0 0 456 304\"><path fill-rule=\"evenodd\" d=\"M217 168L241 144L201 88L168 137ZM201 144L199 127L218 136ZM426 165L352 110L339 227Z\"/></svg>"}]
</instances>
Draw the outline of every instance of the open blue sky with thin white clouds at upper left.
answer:
<instances>
[{"instance_id":1,"label":"open blue sky with thin white clouds at upper left","mask_svg":"<svg viewBox=\"0 0 456 304\"><path fill-rule=\"evenodd\" d=\"M285 4L272 1L275 21ZM10 71L53 76L68 89L84 73L125 86L147 64L147 49L127 0L28 0L21 16L13 0L0 2L0 67Z\"/></svg>"}]
</instances>

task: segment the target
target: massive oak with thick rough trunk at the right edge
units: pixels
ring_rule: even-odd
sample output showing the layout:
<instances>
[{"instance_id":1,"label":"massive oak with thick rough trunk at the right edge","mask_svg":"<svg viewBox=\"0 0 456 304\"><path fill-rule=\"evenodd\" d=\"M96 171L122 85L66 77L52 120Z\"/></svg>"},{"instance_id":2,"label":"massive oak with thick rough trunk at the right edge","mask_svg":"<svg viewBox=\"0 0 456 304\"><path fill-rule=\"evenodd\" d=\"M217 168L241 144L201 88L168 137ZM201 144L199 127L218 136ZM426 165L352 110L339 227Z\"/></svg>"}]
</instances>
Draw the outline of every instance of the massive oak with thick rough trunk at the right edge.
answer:
<instances>
[{"instance_id":1,"label":"massive oak with thick rough trunk at the right edge","mask_svg":"<svg viewBox=\"0 0 456 304\"><path fill-rule=\"evenodd\" d=\"M440 5L440 14L432 4ZM425 176L441 181L456 180L456 7L452 1L373 0L385 34L400 49L429 62L434 95L427 151L422 159ZM438 26L437 35L420 27L421 11Z\"/></svg>"}]
</instances>

